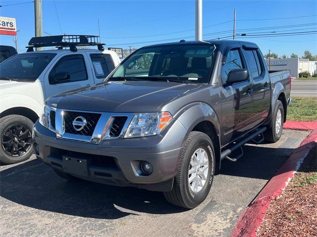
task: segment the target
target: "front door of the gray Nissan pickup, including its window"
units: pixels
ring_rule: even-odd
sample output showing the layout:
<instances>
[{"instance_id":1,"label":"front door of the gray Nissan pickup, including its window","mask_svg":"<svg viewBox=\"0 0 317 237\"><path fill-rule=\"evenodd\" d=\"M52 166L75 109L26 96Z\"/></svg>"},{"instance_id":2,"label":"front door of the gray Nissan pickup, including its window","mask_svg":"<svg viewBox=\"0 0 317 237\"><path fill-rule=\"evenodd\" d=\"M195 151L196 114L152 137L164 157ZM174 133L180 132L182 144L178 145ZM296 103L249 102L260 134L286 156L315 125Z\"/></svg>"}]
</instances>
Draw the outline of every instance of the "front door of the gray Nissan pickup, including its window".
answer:
<instances>
[{"instance_id":1,"label":"front door of the gray Nissan pickup, including its window","mask_svg":"<svg viewBox=\"0 0 317 237\"><path fill-rule=\"evenodd\" d=\"M226 144L243 135L252 126L253 85L251 79L226 84L231 70L247 69L240 44L230 45L225 49L221 64L222 143Z\"/></svg>"}]
</instances>

